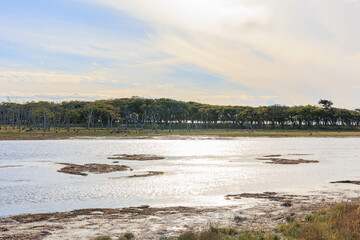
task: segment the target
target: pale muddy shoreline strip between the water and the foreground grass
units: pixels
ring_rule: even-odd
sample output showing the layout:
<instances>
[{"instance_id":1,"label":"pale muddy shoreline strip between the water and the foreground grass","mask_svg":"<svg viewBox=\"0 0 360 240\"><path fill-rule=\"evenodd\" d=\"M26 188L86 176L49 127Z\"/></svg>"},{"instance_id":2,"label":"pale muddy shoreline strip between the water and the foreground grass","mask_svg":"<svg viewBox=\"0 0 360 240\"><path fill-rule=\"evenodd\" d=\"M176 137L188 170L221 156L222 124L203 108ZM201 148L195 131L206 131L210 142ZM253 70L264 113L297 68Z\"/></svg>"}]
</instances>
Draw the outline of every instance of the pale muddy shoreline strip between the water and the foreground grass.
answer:
<instances>
[{"instance_id":1,"label":"pale muddy shoreline strip between the water and the foreground grass","mask_svg":"<svg viewBox=\"0 0 360 240\"><path fill-rule=\"evenodd\" d=\"M335 200L346 200L345 193L314 195L286 193L241 193L228 195L238 199L231 206L149 207L79 209L68 212L22 214L0 218L0 239L95 239L108 235L117 239L132 232L137 239L172 239L181 232L202 230L209 224L272 229L288 217L304 217ZM243 202L241 199L255 201ZM291 204L285 205L284 201ZM242 221L237 221L242 219Z\"/></svg>"}]
</instances>

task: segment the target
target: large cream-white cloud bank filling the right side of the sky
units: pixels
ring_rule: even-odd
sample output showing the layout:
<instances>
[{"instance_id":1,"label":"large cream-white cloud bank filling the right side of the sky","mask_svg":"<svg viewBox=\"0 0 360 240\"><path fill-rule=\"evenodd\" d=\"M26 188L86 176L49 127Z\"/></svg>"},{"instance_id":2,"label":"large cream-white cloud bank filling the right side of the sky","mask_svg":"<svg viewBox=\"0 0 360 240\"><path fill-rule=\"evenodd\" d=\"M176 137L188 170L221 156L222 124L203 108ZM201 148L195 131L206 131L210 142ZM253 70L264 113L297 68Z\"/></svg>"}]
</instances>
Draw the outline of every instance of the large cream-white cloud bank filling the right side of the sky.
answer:
<instances>
[{"instance_id":1,"label":"large cream-white cloud bank filling the right side of the sky","mask_svg":"<svg viewBox=\"0 0 360 240\"><path fill-rule=\"evenodd\" d=\"M269 91L282 102L307 104L324 95L338 106L360 100L349 87L358 81L360 68L348 58L360 49L358 5L340 0L91 2L149 23L156 49Z\"/></svg>"}]
</instances>

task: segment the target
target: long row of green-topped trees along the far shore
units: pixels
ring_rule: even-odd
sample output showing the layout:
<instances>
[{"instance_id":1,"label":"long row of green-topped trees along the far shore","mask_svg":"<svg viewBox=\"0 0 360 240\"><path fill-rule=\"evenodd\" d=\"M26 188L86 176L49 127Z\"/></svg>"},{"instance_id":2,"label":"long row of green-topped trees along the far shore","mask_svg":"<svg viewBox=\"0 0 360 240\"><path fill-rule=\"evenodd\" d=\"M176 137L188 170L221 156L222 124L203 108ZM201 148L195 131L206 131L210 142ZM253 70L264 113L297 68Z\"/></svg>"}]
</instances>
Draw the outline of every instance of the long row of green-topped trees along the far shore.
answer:
<instances>
[{"instance_id":1,"label":"long row of green-topped trees along the far shore","mask_svg":"<svg viewBox=\"0 0 360 240\"><path fill-rule=\"evenodd\" d=\"M306 106L217 106L172 99L0 103L0 128L32 129L314 129L356 128L360 110Z\"/></svg>"}]
</instances>

